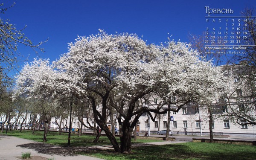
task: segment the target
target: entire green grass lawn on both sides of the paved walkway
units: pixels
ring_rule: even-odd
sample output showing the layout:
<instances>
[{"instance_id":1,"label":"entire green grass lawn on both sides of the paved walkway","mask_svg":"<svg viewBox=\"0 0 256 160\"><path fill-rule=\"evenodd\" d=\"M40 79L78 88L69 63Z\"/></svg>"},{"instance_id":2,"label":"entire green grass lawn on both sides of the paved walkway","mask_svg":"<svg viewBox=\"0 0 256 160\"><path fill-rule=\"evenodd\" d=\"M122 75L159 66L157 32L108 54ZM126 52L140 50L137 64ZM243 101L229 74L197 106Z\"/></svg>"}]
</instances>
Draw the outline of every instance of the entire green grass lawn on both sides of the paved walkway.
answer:
<instances>
[{"instance_id":1,"label":"entire green grass lawn on both sides of the paved walkway","mask_svg":"<svg viewBox=\"0 0 256 160\"><path fill-rule=\"evenodd\" d=\"M9 131L8 135L43 141L43 131ZM53 145L67 145L67 133L58 135L58 132L48 132L47 143ZM111 145L108 137L101 136L99 142L93 143L91 135L71 134L71 145ZM119 137L116 138L119 142ZM157 140L137 140L132 143L156 142ZM159 141L159 140L158 140ZM79 154L98 157L106 160L256 160L256 146L233 145L218 143L178 143L171 145L151 145L143 147L132 147L132 154L119 154L113 150L84 151Z\"/></svg>"}]
</instances>

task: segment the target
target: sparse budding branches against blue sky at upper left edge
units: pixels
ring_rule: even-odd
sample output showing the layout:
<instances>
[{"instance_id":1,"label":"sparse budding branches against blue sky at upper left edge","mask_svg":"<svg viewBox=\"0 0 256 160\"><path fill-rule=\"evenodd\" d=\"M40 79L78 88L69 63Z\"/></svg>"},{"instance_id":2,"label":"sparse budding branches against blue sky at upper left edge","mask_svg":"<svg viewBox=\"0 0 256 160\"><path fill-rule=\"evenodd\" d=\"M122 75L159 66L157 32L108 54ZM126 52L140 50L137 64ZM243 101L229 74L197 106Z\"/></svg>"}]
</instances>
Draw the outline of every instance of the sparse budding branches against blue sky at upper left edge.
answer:
<instances>
[{"instance_id":1,"label":"sparse budding branches against blue sky at upper left edge","mask_svg":"<svg viewBox=\"0 0 256 160\"><path fill-rule=\"evenodd\" d=\"M5 14L14 5L15 3L10 7L4 7L3 3L0 4L0 7L3 7L0 9L0 14ZM0 86L2 84L10 85L11 77L8 76L8 73L18 67L17 62L20 61L19 57L21 57L21 54L18 52L18 44L31 47L36 53L38 53L37 50L44 51L44 49L40 48L43 42L34 45L24 35L23 30L26 26L23 29L16 29L16 26L9 23L9 21L0 18Z\"/></svg>"}]
</instances>

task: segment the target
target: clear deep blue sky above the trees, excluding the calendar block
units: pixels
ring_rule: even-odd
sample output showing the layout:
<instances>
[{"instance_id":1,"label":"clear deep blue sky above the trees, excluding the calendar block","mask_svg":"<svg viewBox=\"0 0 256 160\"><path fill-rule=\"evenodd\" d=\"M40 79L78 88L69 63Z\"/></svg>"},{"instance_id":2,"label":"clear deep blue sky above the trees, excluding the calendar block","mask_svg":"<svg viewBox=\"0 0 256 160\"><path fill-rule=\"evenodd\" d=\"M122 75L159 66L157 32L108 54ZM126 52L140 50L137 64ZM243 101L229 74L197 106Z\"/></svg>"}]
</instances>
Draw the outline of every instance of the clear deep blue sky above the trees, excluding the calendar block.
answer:
<instances>
[{"instance_id":1,"label":"clear deep blue sky above the trees, excluding the calendar block","mask_svg":"<svg viewBox=\"0 0 256 160\"><path fill-rule=\"evenodd\" d=\"M207 27L204 7L230 8L239 16L246 6L256 6L255 0L2 0L4 6L15 6L2 19L11 20L17 29L27 26L25 35L34 44L45 41L41 58L54 61L68 52L68 43L77 35L88 36L104 29L143 35L148 44L160 44L169 35L175 41L189 42L189 33L202 35ZM168 35L169 33L169 35ZM19 51L29 61L38 55L22 45ZM24 59L24 58L22 58ZM23 65L23 62L20 63Z\"/></svg>"}]
</instances>

